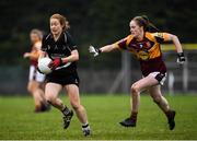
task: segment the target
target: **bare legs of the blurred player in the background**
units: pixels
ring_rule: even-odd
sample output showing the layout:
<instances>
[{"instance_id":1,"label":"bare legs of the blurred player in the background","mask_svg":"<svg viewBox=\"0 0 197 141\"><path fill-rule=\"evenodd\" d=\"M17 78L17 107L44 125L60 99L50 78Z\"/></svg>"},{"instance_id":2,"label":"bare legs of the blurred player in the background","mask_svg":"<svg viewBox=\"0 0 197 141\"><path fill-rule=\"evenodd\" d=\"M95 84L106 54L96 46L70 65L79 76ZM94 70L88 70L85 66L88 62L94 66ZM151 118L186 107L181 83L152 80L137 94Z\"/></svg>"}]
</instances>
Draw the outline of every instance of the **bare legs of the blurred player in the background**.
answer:
<instances>
[{"instance_id":1,"label":"bare legs of the blurred player in the background","mask_svg":"<svg viewBox=\"0 0 197 141\"><path fill-rule=\"evenodd\" d=\"M46 107L46 99L44 96L44 91L39 87L40 83L36 81L30 81L27 85L28 92L34 97L35 111L44 111Z\"/></svg>"}]
</instances>

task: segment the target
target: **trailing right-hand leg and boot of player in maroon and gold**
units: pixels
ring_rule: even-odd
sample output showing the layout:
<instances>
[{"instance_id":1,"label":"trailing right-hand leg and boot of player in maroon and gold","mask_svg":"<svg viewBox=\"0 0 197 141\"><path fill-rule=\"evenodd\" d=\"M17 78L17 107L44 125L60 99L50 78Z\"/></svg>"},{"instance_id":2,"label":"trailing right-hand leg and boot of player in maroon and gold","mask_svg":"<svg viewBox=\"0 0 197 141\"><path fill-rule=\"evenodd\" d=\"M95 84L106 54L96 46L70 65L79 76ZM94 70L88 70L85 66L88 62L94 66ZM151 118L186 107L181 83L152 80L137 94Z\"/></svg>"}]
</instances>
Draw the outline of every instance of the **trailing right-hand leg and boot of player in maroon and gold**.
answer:
<instances>
[{"instance_id":1,"label":"trailing right-hand leg and boot of player in maroon and gold","mask_svg":"<svg viewBox=\"0 0 197 141\"><path fill-rule=\"evenodd\" d=\"M175 127L175 111L170 109L169 103L165 97L162 96L161 86L155 85L149 89L150 95L153 101L158 104L158 106L163 110L169 120L170 130L173 130Z\"/></svg>"}]
</instances>

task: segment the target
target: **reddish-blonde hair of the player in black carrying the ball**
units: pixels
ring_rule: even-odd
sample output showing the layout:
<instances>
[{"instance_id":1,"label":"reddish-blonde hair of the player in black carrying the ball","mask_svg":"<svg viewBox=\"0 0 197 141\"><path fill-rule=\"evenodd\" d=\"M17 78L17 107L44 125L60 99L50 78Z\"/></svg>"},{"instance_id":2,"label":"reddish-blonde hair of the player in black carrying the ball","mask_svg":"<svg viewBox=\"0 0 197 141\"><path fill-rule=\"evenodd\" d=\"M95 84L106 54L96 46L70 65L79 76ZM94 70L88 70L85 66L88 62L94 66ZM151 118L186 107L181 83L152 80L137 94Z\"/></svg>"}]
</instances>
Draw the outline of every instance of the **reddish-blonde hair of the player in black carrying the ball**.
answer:
<instances>
[{"instance_id":1,"label":"reddish-blonde hair of the player in black carrying the ball","mask_svg":"<svg viewBox=\"0 0 197 141\"><path fill-rule=\"evenodd\" d=\"M53 14L50 19L57 19L59 23L62 25L62 31L70 28L69 22L67 17L65 17L63 15L56 13L56 14Z\"/></svg>"}]
</instances>

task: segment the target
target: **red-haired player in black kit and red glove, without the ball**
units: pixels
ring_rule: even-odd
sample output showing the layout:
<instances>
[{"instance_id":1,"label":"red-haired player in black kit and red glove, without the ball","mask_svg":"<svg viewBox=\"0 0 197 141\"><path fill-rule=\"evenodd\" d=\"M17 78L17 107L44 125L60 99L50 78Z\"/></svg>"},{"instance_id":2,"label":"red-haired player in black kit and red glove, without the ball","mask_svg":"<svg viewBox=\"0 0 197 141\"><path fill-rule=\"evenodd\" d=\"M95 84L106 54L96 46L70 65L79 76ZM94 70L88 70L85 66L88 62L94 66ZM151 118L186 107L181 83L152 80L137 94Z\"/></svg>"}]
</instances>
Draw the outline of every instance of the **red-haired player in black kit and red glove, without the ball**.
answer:
<instances>
[{"instance_id":1,"label":"red-haired player in black kit and red glove, without the ball","mask_svg":"<svg viewBox=\"0 0 197 141\"><path fill-rule=\"evenodd\" d=\"M43 38L43 52L40 55L40 58L48 56L53 59L49 63L53 72L47 74L46 78L46 99L63 114L63 128L67 129L73 116L73 111L58 98L59 92L65 89L68 93L70 104L82 124L84 136L89 136L91 129L88 122L86 111L80 104L80 82L77 72L79 52L72 37L67 31L69 28L69 23L66 17L60 14L51 15L49 22L50 33Z\"/></svg>"}]
</instances>

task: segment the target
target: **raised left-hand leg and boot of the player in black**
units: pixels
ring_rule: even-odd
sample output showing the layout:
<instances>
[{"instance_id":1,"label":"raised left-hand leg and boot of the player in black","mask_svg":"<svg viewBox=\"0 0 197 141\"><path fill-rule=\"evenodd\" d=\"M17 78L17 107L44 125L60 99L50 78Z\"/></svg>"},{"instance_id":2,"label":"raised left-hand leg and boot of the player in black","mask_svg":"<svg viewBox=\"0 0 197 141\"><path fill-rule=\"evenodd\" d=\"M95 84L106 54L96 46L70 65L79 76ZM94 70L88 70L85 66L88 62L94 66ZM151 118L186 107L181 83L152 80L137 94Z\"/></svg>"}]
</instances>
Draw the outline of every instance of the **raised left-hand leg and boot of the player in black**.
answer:
<instances>
[{"instance_id":1,"label":"raised left-hand leg and boot of the player in black","mask_svg":"<svg viewBox=\"0 0 197 141\"><path fill-rule=\"evenodd\" d=\"M70 110L62 101L58 98L58 94L62 86L56 83L47 83L45 89L46 99L54 107L58 108L63 114L63 128L67 129L70 125L71 118L73 116L72 110Z\"/></svg>"}]
</instances>

